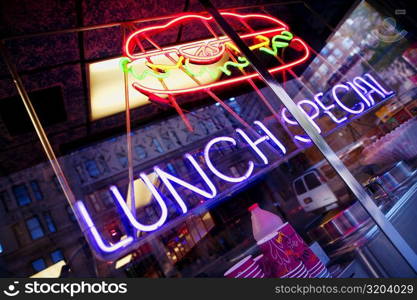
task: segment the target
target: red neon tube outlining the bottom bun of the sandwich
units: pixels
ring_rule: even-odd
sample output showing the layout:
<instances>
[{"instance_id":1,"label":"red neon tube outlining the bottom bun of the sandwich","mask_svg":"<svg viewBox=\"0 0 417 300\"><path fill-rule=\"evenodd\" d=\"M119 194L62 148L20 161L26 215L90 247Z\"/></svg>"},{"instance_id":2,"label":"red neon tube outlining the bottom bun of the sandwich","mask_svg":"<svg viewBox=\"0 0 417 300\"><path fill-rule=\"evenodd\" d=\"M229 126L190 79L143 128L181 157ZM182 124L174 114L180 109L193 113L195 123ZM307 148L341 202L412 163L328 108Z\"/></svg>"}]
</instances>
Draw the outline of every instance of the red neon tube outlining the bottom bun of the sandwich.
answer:
<instances>
[{"instance_id":1,"label":"red neon tube outlining the bottom bun of the sandwich","mask_svg":"<svg viewBox=\"0 0 417 300\"><path fill-rule=\"evenodd\" d=\"M299 65L299 64L303 63L304 61L306 61L310 57L310 50L309 50L307 44L303 40L301 40L299 38L294 38L292 40L292 42L300 43L304 47L305 55L302 58L300 58L299 60L296 60L292 63L285 64L285 65L282 65L282 66L278 66L278 67L275 67L275 68L272 68L272 69L268 69L268 71L271 74L276 73L278 71L283 71L283 70L290 69L291 67L294 67L296 65ZM291 44L292 44L292 42L291 42ZM137 82L132 83L132 85L139 92L146 91L148 93L155 93L155 94L175 95L175 94L183 94L183 93L191 93L191 92L201 91L201 90L210 89L210 88L214 88L214 87L220 87L220 86L227 85L227 84L234 84L234 83L239 82L239 81L243 81L243 80L247 80L247 79L251 79L251 78L256 78L256 77L259 77L259 74L255 72L255 73L252 73L252 74L243 75L243 76L239 76L239 77L235 77L235 78L231 78L231 79L226 79L226 80L219 81L219 82L213 82L213 83L206 84L206 85L195 86L195 87L185 88L185 89L177 89L177 90L158 90L158 89L144 87Z\"/></svg>"}]
</instances>

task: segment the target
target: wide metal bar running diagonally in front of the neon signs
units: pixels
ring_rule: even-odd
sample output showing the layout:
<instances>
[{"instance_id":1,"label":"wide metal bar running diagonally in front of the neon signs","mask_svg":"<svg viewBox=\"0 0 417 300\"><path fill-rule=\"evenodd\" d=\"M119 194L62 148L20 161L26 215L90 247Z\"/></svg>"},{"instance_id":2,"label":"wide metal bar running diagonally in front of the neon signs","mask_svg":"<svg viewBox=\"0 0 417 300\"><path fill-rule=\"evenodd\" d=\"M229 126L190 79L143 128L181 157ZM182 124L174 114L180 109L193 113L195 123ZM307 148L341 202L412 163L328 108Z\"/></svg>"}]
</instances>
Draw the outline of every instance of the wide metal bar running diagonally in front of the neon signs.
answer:
<instances>
[{"instance_id":1,"label":"wide metal bar running diagonally in front of the neon signs","mask_svg":"<svg viewBox=\"0 0 417 300\"><path fill-rule=\"evenodd\" d=\"M239 35L232 29L227 21L222 17L219 11L213 6L210 0L199 0L206 10L213 16L221 30L227 35L237 48L250 61L252 67L259 74L265 84L274 92L275 96L280 100L301 128L308 134L312 142L317 146L329 164L335 169L337 174L342 178L346 185L350 188L356 198L360 201L364 209L375 221L381 231L386 235L388 240L398 250L405 261L417 273L417 255L403 239L395 227L385 218L385 215L376 206L375 202L368 195L362 185L353 177L352 173L346 168L342 161L337 157L336 153L327 144L324 138L316 131L306 115L297 107L291 97L282 88L278 81L268 72L263 63L253 54L246 46Z\"/></svg>"}]
</instances>

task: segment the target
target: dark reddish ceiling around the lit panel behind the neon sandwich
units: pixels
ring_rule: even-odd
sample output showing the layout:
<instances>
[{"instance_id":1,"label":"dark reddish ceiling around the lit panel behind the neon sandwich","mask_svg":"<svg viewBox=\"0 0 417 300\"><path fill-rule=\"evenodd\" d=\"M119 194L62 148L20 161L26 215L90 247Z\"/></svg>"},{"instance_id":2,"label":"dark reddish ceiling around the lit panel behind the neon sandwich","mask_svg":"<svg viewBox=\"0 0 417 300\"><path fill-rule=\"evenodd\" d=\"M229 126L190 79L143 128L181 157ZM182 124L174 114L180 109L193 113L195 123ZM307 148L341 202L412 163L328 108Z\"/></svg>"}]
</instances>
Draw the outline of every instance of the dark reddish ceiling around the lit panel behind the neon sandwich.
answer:
<instances>
[{"instance_id":1,"label":"dark reddish ceiling around the lit panel behind the neon sandwich","mask_svg":"<svg viewBox=\"0 0 417 300\"><path fill-rule=\"evenodd\" d=\"M268 13L291 26L293 32L320 50L331 27L343 19L353 1L250 1L213 0L218 8L271 4ZM286 4L284 4L286 3ZM34 35L82 26L123 22L141 18L203 10L196 0L21 0L2 1L0 31L26 89L32 97L57 155L62 155L124 130L124 114L98 121L89 120L86 64L121 55L120 26L83 32ZM261 12L262 6L249 11ZM246 10L248 11L248 10ZM182 36L176 34L177 40ZM19 38L11 38L20 36ZM0 176L45 161L46 157L28 123L17 91L3 61L0 61ZM184 105L202 105L191 96ZM42 99L46 99L42 102ZM188 104L187 104L188 103ZM205 102L207 104L207 102ZM153 104L132 111L133 125L173 114Z\"/></svg>"}]
</instances>

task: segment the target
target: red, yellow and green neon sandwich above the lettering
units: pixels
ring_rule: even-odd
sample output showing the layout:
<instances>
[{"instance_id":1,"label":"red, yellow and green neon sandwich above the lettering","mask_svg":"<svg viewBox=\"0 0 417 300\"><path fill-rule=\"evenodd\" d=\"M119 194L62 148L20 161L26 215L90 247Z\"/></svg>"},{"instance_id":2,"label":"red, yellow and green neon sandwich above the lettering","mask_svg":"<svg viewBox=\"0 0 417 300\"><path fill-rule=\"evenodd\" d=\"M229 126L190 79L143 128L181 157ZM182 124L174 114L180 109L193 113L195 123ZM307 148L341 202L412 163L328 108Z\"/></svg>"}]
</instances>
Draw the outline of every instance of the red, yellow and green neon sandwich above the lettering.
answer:
<instances>
[{"instance_id":1,"label":"red, yellow and green neon sandwich above the lettering","mask_svg":"<svg viewBox=\"0 0 417 300\"><path fill-rule=\"evenodd\" d=\"M249 48L252 51L257 51L259 55L277 56L279 49L282 48L292 49L296 53L297 59L271 67L269 69L271 73L292 68L303 63L310 57L307 44L300 38L294 37L289 31L288 25L276 18L263 14L237 14L229 12L222 12L221 14L232 21L242 24L251 21L259 22L261 20L270 27L269 29L250 32L240 36L244 41L250 43ZM153 42L152 35L188 22L204 24L214 37L165 48L161 48ZM121 59L120 64L123 71L128 72L135 79L135 82L132 84L133 87L144 94L175 95L231 85L257 78L259 75L256 72L239 73L239 75L233 76L233 70L242 71L250 63L245 57L240 56L239 50L231 43L228 37L216 35L212 29L213 25L214 21L212 17L199 14L187 14L175 18L164 25L142 28L130 34L123 48L125 57ZM143 48L145 41L154 45L157 50L145 51ZM139 48L140 51L135 52L136 48ZM234 55L237 56L237 59L234 61L230 60L231 56ZM153 62L154 59L160 59L161 57L168 58L169 63L156 64ZM213 67L215 63L217 65ZM220 65L218 65L219 63ZM174 71L177 72L174 73ZM200 79L206 75L212 80L209 83L201 83L202 81ZM222 75L226 78L216 81ZM178 81L181 81L180 78L183 78L183 81L190 83L186 87L175 88L167 87L166 84L160 86L158 81L153 80L164 80L170 77L176 77ZM190 78L192 79L191 81Z\"/></svg>"}]
</instances>

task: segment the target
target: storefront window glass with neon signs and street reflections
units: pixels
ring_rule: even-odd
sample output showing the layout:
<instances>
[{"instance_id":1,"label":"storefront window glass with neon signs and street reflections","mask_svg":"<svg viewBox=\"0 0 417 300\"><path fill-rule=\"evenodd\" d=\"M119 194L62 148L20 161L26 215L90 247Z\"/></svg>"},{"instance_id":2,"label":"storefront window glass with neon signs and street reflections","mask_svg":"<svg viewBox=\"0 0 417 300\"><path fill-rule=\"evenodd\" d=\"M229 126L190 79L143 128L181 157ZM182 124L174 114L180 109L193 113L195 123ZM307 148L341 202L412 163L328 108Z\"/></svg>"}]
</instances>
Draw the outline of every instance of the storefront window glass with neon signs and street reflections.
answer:
<instances>
[{"instance_id":1,"label":"storefront window glass with neon signs and street reflections","mask_svg":"<svg viewBox=\"0 0 417 300\"><path fill-rule=\"evenodd\" d=\"M321 17L302 3L222 13L416 252L415 38L374 1L345 5ZM0 205L11 216L4 232L16 236L1 236L5 249L40 249L35 240L54 233L44 257L73 259L74 276L222 277L261 254L259 207L321 248L334 277L353 265L361 276L413 276L346 173L201 16L6 41L48 140L30 118L21 128L2 112L0 143L10 145ZM0 100L21 101L5 77ZM51 109L44 97L56 99ZM26 263L37 272L46 267L38 255Z\"/></svg>"}]
</instances>

